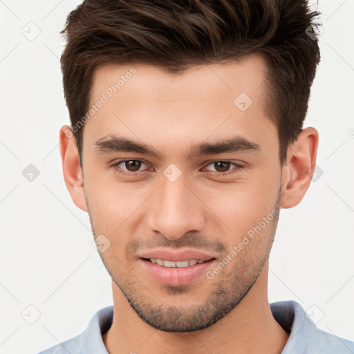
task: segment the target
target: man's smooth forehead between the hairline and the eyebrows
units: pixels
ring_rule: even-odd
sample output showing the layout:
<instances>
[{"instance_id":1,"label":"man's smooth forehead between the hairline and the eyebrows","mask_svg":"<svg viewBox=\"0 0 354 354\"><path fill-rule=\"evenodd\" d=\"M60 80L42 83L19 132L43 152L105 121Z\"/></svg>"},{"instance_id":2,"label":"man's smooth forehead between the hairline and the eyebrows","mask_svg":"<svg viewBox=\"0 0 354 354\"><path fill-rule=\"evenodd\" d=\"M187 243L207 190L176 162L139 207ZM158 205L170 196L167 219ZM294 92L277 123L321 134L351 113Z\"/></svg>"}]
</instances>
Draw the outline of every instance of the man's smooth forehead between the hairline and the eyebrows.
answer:
<instances>
[{"instance_id":1,"label":"man's smooth forehead between the hairline and the eyebrows","mask_svg":"<svg viewBox=\"0 0 354 354\"><path fill-rule=\"evenodd\" d=\"M272 126L262 122L267 117L265 71L259 54L239 62L192 66L180 75L151 65L102 66L93 77L91 106L102 97L104 104L86 122L84 140L92 144L116 134L163 149L169 140L192 145L238 133L263 145L267 136L274 140L277 130L273 124L264 132Z\"/></svg>"}]
</instances>

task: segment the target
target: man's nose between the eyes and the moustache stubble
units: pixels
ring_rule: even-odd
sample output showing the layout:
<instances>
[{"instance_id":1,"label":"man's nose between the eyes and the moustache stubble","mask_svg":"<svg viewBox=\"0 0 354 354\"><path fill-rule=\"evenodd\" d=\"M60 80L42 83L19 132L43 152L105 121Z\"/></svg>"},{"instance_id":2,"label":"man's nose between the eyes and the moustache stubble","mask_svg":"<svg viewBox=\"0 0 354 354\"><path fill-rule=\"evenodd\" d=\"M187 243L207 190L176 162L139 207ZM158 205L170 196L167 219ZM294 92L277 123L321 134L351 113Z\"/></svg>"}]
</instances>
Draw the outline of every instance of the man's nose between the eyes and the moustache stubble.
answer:
<instances>
[{"instance_id":1,"label":"man's nose between the eyes and the moustache stubble","mask_svg":"<svg viewBox=\"0 0 354 354\"><path fill-rule=\"evenodd\" d=\"M179 239L186 232L201 231L205 210L198 194L187 185L183 174L171 182L162 176L162 185L149 205L148 227L167 239ZM199 197L200 198L200 197Z\"/></svg>"}]
</instances>

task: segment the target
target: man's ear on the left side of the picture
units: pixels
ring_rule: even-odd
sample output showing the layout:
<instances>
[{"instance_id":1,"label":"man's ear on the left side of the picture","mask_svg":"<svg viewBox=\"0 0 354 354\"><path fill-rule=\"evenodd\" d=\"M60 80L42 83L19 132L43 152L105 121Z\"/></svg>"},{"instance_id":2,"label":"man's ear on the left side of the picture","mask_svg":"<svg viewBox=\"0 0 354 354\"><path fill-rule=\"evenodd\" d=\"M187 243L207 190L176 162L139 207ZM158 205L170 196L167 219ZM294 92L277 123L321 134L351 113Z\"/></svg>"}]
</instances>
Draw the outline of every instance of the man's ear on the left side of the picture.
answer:
<instances>
[{"instance_id":1,"label":"man's ear on the left side of the picture","mask_svg":"<svg viewBox=\"0 0 354 354\"><path fill-rule=\"evenodd\" d=\"M68 188L75 205L87 212L79 151L71 127L63 125L60 129L59 140L66 188Z\"/></svg>"}]
</instances>

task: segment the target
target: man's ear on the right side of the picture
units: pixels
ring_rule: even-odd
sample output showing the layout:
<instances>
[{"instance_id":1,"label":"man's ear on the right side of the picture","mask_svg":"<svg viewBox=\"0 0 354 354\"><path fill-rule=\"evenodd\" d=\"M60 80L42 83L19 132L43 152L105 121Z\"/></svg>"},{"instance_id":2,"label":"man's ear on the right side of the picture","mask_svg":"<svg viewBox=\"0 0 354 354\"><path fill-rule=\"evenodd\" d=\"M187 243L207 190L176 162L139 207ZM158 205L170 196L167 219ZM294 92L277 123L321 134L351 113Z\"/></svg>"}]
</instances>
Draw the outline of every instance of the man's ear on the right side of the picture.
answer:
<instances>
[{"instance_id":1,"label":"man's ear on the right side of the picture","mask_svg":"<svg viewBox=\"0 0 354 354\"><path fill-rule=\"evenodd\" d=\"M303 129L288 147L282 171L280 203L284 209L298 205L310 186L316 166L318 135L315 128Z\"/></svg>"}]
</instances>

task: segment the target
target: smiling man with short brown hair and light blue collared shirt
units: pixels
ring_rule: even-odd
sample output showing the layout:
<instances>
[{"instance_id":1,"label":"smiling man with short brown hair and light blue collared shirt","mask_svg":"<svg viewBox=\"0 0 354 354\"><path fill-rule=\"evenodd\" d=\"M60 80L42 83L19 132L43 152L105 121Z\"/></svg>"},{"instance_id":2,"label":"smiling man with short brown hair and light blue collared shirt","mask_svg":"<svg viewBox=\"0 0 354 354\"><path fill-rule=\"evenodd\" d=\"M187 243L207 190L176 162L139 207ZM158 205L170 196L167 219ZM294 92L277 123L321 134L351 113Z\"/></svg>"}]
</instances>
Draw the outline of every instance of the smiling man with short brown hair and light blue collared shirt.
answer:
<instances>
[{"instance_id":1,"label":"smiling man with short brown hair and light blue collared shirt","mask_svg":"<svg viewBox=\"0 0 354 354\"><path fill-rule=\"evenodd\" d=\"M113 307L43 354L354 353L267 295L279 211L300 203L316 162L318 132L303 122L317 15L300 0L71 12L64 179L90 216Z\"/></svg>"}]
</instances>

